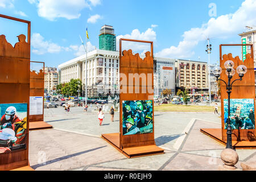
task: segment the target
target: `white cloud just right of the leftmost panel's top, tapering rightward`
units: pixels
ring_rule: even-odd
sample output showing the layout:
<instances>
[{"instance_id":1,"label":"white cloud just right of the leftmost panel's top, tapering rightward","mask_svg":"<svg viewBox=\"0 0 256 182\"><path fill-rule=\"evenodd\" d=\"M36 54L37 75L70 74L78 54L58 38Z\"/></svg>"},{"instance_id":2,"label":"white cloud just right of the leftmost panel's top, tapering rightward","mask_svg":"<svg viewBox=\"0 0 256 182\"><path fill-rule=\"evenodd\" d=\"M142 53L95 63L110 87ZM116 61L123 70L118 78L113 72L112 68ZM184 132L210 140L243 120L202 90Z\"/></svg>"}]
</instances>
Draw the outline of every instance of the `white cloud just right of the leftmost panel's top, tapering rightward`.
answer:
<instances>
[{"instance_id":1,"label":"white cloud just right of the leftmost panel's top, tapering rightward","mask_svg":"<svg viewBox=\"0 0 256 182\"><path fill-rule=\"evenodd\" d=\"M58 53L60 51L71 51L68 47L59 46L51 41L44 40L43 36L39 33L34 33L31 36L32 52L37 55L43 55L44 53Z\"/></svg>"}]
</instances>

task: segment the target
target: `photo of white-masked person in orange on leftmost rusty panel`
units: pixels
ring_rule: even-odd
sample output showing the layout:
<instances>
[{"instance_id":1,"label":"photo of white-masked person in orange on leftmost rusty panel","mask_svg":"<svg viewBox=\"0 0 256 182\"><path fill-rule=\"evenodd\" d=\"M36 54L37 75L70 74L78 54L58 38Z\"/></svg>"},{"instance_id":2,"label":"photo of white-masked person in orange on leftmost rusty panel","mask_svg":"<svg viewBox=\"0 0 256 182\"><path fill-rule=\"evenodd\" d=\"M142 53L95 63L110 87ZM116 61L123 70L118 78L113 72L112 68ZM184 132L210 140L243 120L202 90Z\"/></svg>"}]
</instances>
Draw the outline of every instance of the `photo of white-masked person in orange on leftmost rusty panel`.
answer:
<instances>
[{"instance_id":1,"label":"photo of white-masked person in orange on leftmost rusty panel","mask_svg":"<svg viewBox=\"0 0 256 182\"><path fill-rule=\"evenodd\" d=\"M26 148L27 104L0 104L0 154Z\"/></svg>"}]
</instances>

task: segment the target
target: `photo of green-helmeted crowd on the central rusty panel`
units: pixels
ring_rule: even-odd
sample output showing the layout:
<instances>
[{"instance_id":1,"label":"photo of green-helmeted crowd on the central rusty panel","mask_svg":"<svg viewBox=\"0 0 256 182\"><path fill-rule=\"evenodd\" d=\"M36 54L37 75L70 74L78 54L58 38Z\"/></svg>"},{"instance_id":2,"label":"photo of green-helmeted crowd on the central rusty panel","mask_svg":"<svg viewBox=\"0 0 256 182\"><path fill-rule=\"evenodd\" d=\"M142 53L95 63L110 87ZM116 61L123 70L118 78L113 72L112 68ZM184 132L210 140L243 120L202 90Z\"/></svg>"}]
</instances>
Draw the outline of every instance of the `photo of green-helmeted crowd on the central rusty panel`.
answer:
<instances>
[{"instance_id":1,"label":"photo of green-helmeted crowd on the central rusty panel","mask_svg":"<svg viewBox=\"0 0 256 182\"><path fill-rule=\"evenodd\" d=\"M123 101L123 135L153 132L152 101Z\"/></svg>"}]
</instances>

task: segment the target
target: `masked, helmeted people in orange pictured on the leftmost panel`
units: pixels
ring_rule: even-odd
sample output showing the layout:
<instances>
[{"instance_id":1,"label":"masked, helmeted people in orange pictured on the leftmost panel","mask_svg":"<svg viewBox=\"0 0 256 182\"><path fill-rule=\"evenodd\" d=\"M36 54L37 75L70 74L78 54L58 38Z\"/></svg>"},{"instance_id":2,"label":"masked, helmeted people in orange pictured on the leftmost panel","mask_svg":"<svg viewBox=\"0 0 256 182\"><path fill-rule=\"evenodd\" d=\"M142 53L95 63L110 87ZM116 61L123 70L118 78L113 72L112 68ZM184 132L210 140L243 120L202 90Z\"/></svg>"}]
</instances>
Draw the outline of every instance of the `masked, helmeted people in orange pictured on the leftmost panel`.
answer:
<instances>
[{"instance_id":1,"label":"masked, helmeted people in orange pictured on the leftmost panel","mask_svg":"<svg viewBox=\"0 0 256 182\"><path fill-rule=\"evenodd\" d=\"M1 117L0 127L0 153L10 152L13 147L25 147L27 117L19 118L14 106L7 107Z\"/></svg>"}]
</instances>

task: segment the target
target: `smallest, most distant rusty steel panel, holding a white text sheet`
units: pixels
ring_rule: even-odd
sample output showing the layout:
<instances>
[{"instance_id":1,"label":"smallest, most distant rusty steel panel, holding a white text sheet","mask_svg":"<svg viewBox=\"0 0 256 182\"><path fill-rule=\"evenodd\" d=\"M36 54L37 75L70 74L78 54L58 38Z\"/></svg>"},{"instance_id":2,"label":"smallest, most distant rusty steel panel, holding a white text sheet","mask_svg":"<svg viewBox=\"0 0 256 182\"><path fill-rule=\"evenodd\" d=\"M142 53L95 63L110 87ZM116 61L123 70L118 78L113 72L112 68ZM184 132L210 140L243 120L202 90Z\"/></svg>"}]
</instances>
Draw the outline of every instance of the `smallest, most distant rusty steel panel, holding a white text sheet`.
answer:
<instances>
[{"instance_id":1,"label":"smallest, most distant rusty steel panel, holding a white text sheet","mask_svg":"<svg viewBox=\"0 0 256 182\"><path fill-rule=\"evenodd\" d=\"M30 63L43 64L43 69L39 73L30 70L30 97L42 96L44 101L44 62L30 61ZM30 115L30 122L44 121L44 102L43 114Z\"/></svg>"}]
</instances>

